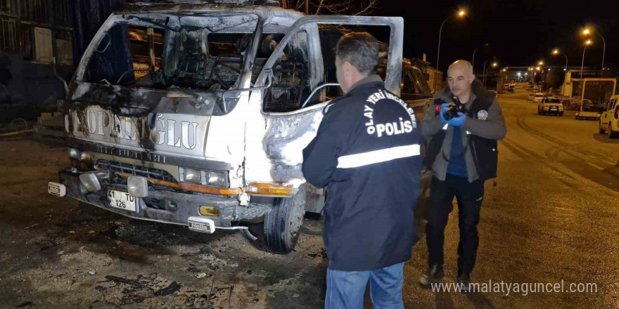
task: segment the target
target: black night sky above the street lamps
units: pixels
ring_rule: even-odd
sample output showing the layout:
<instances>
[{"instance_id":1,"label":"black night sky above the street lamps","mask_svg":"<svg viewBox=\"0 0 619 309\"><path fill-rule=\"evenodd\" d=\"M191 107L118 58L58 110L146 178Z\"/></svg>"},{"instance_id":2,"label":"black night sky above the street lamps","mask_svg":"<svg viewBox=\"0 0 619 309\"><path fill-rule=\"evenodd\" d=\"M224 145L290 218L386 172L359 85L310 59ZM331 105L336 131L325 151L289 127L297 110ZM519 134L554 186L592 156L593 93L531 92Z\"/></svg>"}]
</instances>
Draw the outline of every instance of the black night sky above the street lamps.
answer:
<instances>
[{"instance_id":1,"label":"black night sky above the street lamps","mask_svg":"<svg viewBox=\"0 0 619 309\"><path fill-rule=\"evenodd\" d=\"M476 47L476 70L492 56L501 67L532 66L542 59L548 65L565 65L566 58L551 55L561 48L569 66L580 67L585 25L595 29L590 34L594 44L587 48L585 66L600 68L602 40L606 39L604 67L619 67L619 1L499 0L398 1L379 0L372 15L404 18L404 57L421 58L436 64L438 32L447 16L456 15L459 7L467 8L466 18L454 17L442 29L439 69L459 58L471 61Z\"/></svg>"}]
</instances>

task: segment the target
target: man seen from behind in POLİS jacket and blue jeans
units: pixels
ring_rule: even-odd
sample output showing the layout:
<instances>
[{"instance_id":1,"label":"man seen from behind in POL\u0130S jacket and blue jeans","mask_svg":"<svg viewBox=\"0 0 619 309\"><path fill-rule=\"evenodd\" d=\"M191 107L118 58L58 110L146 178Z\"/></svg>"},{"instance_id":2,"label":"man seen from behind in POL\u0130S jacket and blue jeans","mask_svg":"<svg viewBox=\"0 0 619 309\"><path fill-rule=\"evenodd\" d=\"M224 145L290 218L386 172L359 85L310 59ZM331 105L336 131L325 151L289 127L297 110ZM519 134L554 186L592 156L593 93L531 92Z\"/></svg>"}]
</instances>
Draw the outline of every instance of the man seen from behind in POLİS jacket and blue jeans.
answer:
<instances>
[{"instance_id":1,"label":"man seen from behind in POL\u0130S jacket and blue jeans","mask_svg":"<svg viewBox=\"0 0 619 309\"><path fill-rule=\"evenodd\" d=\"M368 281L375 308L404 308L421 133L413 110L374 73L377 64L370 34L340 39L336 69L345 96L324 108L317 136L303 150L305 178L328 190L325 308L362 308Z\"/></svg>"}]
</instances>

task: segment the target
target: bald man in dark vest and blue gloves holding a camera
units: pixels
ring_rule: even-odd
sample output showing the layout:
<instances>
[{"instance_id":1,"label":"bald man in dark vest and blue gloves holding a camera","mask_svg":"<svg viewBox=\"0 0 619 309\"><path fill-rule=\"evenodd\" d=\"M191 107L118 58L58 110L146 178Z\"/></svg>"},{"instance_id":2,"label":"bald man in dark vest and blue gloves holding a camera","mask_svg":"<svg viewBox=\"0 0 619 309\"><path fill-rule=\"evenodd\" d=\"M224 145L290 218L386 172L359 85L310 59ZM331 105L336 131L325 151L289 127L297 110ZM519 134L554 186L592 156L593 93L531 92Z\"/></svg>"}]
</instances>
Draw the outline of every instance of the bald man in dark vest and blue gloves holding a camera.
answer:
<instances>
[{"instance_id":1,"label":"bald man in dark vest and blue gloves holding a camera","mask_svg":"<svg viewBox=\"0 0 619 309\"><path fill-rule=\"evenodd\" d=\"M481 88L471 63L452 63L447 84L435 95L434 105L421 121L423 137L431 138L426 165L433 178L426 214L428 270L419 282L427 287L442 281L445 226L456 197L460 228L457 280L466 292L479 244L477 225L484 181L497 177L497 140L504 138L506 127L497 98ZM445 119L449 103L460 103L461 107L456 117Z\"/></svg>"}]
</instances>

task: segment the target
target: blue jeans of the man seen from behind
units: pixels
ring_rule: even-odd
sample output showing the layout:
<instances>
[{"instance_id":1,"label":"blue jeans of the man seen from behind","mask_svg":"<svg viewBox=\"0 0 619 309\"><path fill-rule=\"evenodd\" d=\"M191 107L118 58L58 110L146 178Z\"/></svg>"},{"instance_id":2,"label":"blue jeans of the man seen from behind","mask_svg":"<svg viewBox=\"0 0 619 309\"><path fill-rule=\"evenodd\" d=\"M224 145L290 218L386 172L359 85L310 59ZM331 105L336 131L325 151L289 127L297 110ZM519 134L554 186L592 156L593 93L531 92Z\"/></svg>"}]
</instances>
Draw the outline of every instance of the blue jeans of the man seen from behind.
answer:
<instances>
[{"instance_id":1,"label":"blue jeans of the man seen from behind","mask_svg":"<svg viewBox=\"0 0 619 309\"><path fill-rule=\"evenodd\" d=\"M370 298L375 309L402 309L404 263L377 270L347 272L326 270L325 309L361 309L363 294L369 280Z\"/></svg>"}]
</instances>

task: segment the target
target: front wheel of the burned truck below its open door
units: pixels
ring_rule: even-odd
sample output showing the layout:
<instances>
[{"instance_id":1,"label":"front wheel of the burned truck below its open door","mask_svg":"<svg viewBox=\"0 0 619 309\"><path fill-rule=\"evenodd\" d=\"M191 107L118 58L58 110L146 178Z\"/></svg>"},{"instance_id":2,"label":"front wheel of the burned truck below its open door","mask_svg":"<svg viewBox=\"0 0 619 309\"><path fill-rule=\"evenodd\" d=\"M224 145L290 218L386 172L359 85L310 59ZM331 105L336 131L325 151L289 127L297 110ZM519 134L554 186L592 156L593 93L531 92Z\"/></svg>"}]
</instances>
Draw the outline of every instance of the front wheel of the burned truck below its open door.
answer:
<instances>
[{"instance_id":1,"label":"front wheel of the burned truck below its open door","mask_svg":"<svg viewBox=\"0 0 619 309\"><path fill-rule=\"evenodd\" d=\"M274 199L273 208L264 217L264 240L270 251L287 254L295 248L305 215L306 190L306 185L301 185L294 197Z\"/></svg>"}]
</instances>

